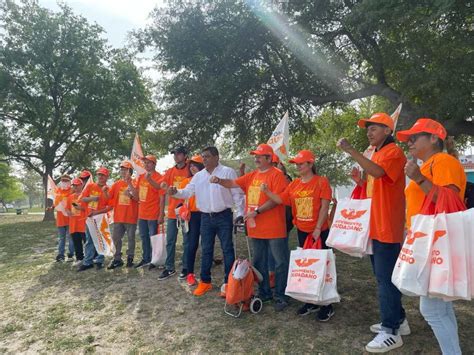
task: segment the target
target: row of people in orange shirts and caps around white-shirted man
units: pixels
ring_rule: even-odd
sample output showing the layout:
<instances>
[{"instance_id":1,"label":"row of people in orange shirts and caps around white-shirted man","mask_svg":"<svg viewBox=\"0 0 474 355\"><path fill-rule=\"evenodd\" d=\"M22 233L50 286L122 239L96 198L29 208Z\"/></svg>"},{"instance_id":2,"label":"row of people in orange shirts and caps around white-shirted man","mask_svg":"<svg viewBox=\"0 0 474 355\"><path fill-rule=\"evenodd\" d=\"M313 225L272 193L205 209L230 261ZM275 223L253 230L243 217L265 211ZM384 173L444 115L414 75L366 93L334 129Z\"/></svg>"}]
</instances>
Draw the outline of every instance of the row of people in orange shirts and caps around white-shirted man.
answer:
<instances>
[{"instance_id":1,"label":"row of people in orange shirts and caps around white-shirted man","mask_svg":"<svg viewBox=\"0 0 474 355\"><path fill-rule=\"evenodd\" d=\"M376 113L369 119L359 120L358 125L367 130L369 143L375 147L372 156L358 152L346 139L341 139L337 145L362 168L362 174L354 170L351 176L363 194L372 199L369 236L373 243L371 261L377 281L381 322L370 326L376 336L367 344L366 350L386 352L402 346L401 336L410 334L401 293L392 284L391 275L411 217L420 212L433 185L451 188L463 198L466 175L460 162L443 152L447 133L435 120L421 118L412 128L396 134L400 142L407 143L411 156L423 162L421 167L416 159L407 160L395 143L394 123L389 115ZM327 248L332 190L328 179L315 169L317 157L309 150L302 150L290 159L298 172L298 177L291 181L267 144L260 144L250 152L256 169L247 173L237 173L222 165L217 148L212 146L191 157L184 147L171 153L175 165L164 175L156 172L157 159L153 155L143 158L146 172L135 179L132 178L132 164L123 161L120 179L110 187L107 185L109 170L104 167L96 171L97 182L88 182L89 171L82 171L74 179L63 175L55 201L56 206L62 201L66 205L66 215L57 213L57 261L65 259L65 240L70 234L73 243L69 243L67 256L72 259L75 254L78 270L93 268L94 264L103 267L104 257L95 250L85 219L113 210L112 239L116 251L108 269L124 265L122 239L125 234L128 237L126 266L156 267L151 264L150 237L162 228L166 214L167 258L158 277L158 280L166 280L176 274L179 219L176 211L185 205L190 218L183 235L179 279L186 280L190 286L196 285L193 294L203 296L212 289L211 267L217 236L225 272L221 294L225 296L228 275L235 260L233 227L243 220L252 244L254 267L263 276L258 295L263 302L274 300L276 311L284 310L288 305L285 288L291 227L296 227L299 246L303 246L309 236L314 240L320 238L323 248ZM405 176L411 180L408 186L405 186ZM137 225L142 256L134 264ZM201 270L198 282L194 268L199 245ZM460 354L452 303L421 297L420 310L432 327L443 354ZM313 312L317 312L320 321L328 321L334 315L332 305L304 304L298 309L299 315Z\"/></svg>"}]
</instances>

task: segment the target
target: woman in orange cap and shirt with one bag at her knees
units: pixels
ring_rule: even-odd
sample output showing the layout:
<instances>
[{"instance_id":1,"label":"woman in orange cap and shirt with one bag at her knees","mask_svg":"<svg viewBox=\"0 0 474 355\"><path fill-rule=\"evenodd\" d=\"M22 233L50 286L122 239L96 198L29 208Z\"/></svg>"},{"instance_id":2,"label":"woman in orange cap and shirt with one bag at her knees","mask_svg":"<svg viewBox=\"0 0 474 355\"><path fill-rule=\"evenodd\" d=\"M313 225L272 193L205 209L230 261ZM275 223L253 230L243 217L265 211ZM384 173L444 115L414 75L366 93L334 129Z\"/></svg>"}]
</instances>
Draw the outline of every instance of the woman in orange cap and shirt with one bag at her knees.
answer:
<instances>
[{"instance_id":1,"label":"woman in orange cap and shirt with one bag at her knees","mask_svg":"<svg viewBox=\"0 0 474 355\"><path fill-rule=\"evenodd\" d=\"M293 180L281 194L274 194L262 184L262 191L275 203L291 206L293 224L298 232L298 244L303 246L308 235L316 241L321 238L323 249L327 249L326 239L329 235L328 210L332 191L329 181L316 174L315 156L309 150L302 150L290 160L296 164L299 178ZM319 308L306 303L299 310L299 315L306 315L318 310L318 320L328 321L333 315L332 305Z\"/></svg>"}]
</instances>

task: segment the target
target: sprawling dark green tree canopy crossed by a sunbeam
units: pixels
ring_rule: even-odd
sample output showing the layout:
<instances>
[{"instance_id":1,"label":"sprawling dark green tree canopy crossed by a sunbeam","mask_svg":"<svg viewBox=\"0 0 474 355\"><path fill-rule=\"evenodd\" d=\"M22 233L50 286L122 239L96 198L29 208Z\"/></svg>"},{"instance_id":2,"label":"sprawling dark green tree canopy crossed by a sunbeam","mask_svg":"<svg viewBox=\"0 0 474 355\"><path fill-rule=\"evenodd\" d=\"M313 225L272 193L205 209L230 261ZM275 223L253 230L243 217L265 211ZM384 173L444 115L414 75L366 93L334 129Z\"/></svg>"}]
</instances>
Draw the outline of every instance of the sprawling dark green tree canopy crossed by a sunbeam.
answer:
<instances>
[{"instance_id":1,"label":"sprawling dark green tree canopy crossed by a sunbeam","mask_svg":"<svg viewBox=\"0 0 474 355\"><path fill-rule=\"evenodd\" d=\"M467 2L263 3L174 1L137 33L166 73L170 140L202 146L223 135L239 151L265 140L286 110L290 130L310 135L318 110L371 96L390 110L403 102L400 127L426 115L474 134Z\"/></svg>"}]
</instances>

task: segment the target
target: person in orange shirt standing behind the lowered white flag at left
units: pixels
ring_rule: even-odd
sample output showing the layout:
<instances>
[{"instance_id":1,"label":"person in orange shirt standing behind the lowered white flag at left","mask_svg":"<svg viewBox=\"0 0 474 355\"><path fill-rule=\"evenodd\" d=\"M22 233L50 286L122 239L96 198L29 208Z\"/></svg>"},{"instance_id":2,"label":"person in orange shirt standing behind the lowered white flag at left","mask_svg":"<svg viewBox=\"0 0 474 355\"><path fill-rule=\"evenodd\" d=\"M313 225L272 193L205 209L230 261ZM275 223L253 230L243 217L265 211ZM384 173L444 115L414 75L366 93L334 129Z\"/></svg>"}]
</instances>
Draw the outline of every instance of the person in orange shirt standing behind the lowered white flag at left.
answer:
<instances>
[{"instance_id":1,"label":"person in orange shirt standing behind the lowered white flag at left","mask_svg":"<svg viewBox=\"0 0 474 355\"><path fill-rule=\"evenodd\" d=\"M110 210L108 206L109 200L109 187L107 186L107 179L109 178L109 170L101 167L97 169L97 183L89 182L87 186L84 186L84 190L81 195L81 202L87 203L87 217L92 217L101 213L106 213ZM89 177L91 178L91 177ZM97 269L101 269L104 266L104 255L98 254L95 249L94 242L90 235L89 229L86 226L86 245L85 245L85 256L82 265L78 271L88 270L94 267L94 263ZM94 259L95 258L95 259Z\"/></svg>"}]
</instances>

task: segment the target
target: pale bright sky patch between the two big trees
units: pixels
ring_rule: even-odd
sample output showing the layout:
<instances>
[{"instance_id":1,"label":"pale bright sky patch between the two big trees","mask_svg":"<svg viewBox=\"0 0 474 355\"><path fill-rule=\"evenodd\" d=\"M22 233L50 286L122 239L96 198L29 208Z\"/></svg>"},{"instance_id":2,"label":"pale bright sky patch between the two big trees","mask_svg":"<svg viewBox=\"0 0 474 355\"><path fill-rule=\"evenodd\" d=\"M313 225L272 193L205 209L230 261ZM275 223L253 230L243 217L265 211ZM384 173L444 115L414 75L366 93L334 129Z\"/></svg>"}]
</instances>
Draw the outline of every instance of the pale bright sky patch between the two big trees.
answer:
<instances>
[{"instance_id":1,"label":"pale bright sky patch between the two big trees","mask_svg":"<svg viewBox=\"0 0 474 355\"><path fill-rule=\"evenodd\" d=\"M150 12L156 6L162 6L165 1L169 0L68 0L64 3L76 14L103 27L104 37L109 43L113 47L122 48L127 45L128 33L145 27L150 22ZM55 0L39 0L39 4L53 11L59 10ZM147 71L146 75L151 78L158 76L152 71ZM173 164L173 156L167 155L158 160L156 168L163 172Z\"/></svg>"}]
</instances>

